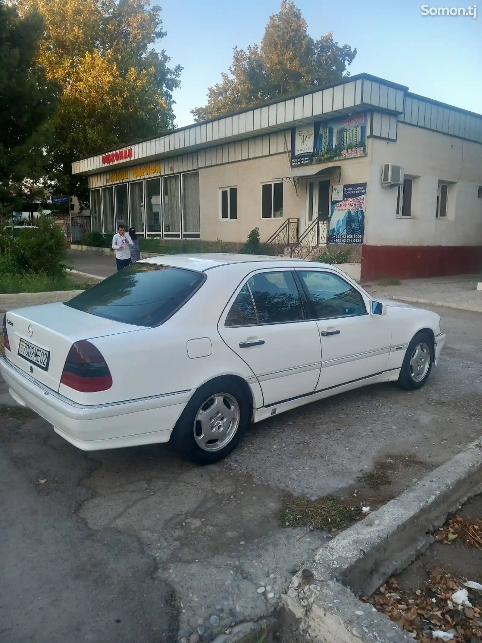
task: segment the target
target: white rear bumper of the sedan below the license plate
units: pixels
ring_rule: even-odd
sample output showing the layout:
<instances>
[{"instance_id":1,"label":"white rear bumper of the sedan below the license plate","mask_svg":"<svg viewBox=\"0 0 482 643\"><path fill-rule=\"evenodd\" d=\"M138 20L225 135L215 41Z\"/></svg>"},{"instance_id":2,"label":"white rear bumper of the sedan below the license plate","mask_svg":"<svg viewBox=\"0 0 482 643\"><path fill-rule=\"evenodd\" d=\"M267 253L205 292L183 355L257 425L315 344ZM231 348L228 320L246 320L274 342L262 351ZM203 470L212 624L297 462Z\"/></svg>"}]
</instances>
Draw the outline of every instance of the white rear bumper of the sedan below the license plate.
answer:
<instances>
[{"instance_id":1,"label":"white rear bumper of the sedan below the license plate","mask_svg":"<svg viewBox=\"0 0 482 643\"><path fill-rule=\"evenodd\" d=\"M39 384L0 358L0 372L10 394L28 406L68 442L84 451L168 442L192 392L180 391L115 404L85 406Z\"/></svg>"}]
</instances>

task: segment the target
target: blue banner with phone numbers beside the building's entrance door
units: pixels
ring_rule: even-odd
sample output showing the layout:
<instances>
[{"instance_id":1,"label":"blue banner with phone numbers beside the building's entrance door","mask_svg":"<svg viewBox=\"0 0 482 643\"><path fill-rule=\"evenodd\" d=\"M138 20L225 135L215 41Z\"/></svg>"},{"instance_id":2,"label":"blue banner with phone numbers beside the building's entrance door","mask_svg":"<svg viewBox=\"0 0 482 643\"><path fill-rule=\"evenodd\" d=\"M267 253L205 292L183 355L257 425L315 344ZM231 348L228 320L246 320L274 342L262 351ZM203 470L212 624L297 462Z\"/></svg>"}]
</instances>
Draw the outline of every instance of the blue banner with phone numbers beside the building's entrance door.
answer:
<instances>
[{"instance_id":1,"label":"blue banner with phone numbers beside the building's entrance door","mask_svg":"<svg viewBox=\"0 0 482 643\"><path fill-rule=\"evenodd\" d=\"M366 183L349 183L344 185L343 199L341 199L341 201L334 201L332 198L329 235L330 243L363 243L365 203Z\"/></svg>"}]
</instances>

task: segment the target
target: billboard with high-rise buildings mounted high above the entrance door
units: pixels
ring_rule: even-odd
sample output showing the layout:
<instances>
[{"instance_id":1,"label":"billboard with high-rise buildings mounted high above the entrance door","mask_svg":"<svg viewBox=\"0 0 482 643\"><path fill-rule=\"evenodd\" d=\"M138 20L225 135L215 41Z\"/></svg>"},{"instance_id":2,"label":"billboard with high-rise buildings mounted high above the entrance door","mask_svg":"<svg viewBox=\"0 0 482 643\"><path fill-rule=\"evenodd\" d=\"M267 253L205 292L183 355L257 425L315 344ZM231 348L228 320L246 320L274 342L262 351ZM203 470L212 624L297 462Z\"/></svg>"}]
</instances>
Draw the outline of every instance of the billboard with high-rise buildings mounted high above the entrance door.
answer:
<instances>
[{"instance_id":1,"label":"billboard with high-rise buildings mounted high above the entrance door","mask_svg":"<svg viewBox=\"0 0 482 643\"><path fill-rule=\"evenodd\" d=\"M291 167L366 155L366 114L342 116L291 131Z\"/></svg>"}]
</instances>

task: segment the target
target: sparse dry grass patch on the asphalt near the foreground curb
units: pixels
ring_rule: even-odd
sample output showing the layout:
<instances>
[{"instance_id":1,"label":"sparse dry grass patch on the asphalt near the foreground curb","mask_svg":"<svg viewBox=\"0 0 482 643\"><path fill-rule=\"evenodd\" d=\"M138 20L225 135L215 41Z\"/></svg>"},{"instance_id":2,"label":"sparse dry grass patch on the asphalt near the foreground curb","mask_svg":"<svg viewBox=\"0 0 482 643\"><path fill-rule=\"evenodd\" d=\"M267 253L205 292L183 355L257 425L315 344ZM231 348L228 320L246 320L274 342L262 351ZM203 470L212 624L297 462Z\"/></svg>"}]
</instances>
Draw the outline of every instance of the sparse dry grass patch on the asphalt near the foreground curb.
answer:
<instances>
[{"instance_id":1,"label":"sparse dry grass patch on the asphalt near the foreground curb","mask_svg":"<svg viewBox=\"0 0 482 643\"><path fill-rule=\"evenodd\" d=\"M348 527L360 515L359 507L351 507L336 496L324 496L317 500L286 496L280 520L283 527L313 527L332 531Z\"/></svg>"}]
</instances>

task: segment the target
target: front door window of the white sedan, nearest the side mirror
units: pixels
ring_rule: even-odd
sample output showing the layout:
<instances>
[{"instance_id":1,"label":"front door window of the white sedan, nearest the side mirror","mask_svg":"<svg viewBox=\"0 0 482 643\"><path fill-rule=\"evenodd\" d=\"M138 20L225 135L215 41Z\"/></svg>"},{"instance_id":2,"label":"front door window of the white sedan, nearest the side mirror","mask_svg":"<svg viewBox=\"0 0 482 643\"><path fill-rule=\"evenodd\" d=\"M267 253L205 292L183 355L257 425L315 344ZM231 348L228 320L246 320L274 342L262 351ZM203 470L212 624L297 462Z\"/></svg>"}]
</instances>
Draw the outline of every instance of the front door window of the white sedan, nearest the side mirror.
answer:
<instances>
[{"instance_id":1,"label":"front door window of the white sedan, nearest the side mirror","mask_svg":"<svg viewBox=\"0 0 482 643\"><path fill-rule=\"evenodd\" d=\"M361 293L340 276L308 270L299 271L298 275L310 294L316 319L366 314Z\"/></svg>"}]
</instances>

